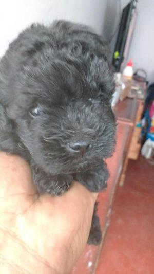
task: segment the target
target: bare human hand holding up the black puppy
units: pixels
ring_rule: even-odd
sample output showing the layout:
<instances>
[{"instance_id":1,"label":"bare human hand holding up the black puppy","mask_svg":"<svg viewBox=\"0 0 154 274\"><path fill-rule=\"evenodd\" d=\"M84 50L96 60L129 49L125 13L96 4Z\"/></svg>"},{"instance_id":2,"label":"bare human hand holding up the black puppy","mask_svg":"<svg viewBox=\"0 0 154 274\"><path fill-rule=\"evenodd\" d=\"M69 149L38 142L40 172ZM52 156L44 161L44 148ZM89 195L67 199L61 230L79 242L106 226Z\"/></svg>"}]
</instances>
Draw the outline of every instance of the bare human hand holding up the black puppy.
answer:
<instances>
[{"instance_id":1,"label":"bare human hand holding up the black puppy","mask_svg":"<svg viewBox=\"0 0 154 274\"><path fill-rule=\"evenodd\" d=\"M86 245L97 194L73 182L39 195L28 164L0 153L0 272L69 273Z\"/></svg>"}]
</instances>

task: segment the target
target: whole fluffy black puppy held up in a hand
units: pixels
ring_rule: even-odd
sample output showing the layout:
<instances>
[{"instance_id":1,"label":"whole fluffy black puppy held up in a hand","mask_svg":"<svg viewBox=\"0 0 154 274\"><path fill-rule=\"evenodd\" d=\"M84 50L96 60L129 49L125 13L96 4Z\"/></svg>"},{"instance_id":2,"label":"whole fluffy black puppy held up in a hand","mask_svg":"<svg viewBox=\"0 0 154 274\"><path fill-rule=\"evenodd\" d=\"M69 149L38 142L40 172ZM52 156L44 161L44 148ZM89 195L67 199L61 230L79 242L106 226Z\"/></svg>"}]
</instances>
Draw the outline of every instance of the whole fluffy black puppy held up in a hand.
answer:
<instances>
[{"instance_id":1,"label":"whole fluffy black puppy held up in a hand","mask_svg":"<svg viewBox=\"0 0 154 274\"><path fill-rule=\"evenodd\" d=\"M113 89L101 36L66 21L33 24L0 62L0 150L29 162L40 193L60 195L73 179L101 191L115 143ZM89 243L100 240L94 214Z\"/></svg>"}]
</instances>

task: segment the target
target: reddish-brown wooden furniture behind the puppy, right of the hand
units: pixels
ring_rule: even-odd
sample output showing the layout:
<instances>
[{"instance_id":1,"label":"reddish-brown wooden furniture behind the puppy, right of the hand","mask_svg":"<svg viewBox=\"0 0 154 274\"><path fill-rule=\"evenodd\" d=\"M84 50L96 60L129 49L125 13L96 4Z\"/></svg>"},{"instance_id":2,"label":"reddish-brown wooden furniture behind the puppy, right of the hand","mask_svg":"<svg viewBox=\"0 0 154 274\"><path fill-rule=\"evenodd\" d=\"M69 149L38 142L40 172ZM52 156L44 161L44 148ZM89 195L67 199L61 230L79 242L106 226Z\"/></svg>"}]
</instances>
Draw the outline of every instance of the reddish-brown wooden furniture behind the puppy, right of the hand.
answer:
<instances>
[{"instance_id":1,"label":"reddish-brown wooden furniture behind the puppy, right of the hand","mask_svg":"<svg viewBox=\"0 0 154 274\"><path fill-rule=\"evenodd\" d=\"M72 270L72 274L94 273L99 260L99 254L103 246L107 227L110 223L110 214L115 190L120 183L124 182L125 171L128 159L131 158L131 151L134 148L134 140L138 143L139 136L136 136L136 123L140 120L143 109L143 99L136 97L125 98L113 106L117 118L117 144L113 156L107 159L110 172L108 188L98 196L98 216L102 229L102 242L99 246L87 245L79 261ZM138 154L138 153L137 153ZM136 155L137 157L137 155Z\"/></svg>"}]
</instances>

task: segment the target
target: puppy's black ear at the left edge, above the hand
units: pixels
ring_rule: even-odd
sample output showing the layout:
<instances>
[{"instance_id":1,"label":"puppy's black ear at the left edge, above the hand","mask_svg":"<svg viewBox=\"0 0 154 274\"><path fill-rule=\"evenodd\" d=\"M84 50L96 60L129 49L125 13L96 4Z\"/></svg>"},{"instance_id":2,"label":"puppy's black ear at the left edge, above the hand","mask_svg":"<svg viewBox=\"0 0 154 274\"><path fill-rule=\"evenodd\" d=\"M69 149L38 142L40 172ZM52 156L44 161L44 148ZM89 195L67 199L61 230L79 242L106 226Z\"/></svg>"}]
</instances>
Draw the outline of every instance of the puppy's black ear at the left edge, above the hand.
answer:
<instances>
[{"instance_id":1,"label":"puppy's black ear at the left edge, above the hand","mask_svg":"<svg viewBox=\"0 0 154 274\"><path fill-rule=\"evenodd\" d=\"M0 151L18 154L18 141L13 122L8 118L5 107L0 103Z\"/></svg>"}]
</instances>

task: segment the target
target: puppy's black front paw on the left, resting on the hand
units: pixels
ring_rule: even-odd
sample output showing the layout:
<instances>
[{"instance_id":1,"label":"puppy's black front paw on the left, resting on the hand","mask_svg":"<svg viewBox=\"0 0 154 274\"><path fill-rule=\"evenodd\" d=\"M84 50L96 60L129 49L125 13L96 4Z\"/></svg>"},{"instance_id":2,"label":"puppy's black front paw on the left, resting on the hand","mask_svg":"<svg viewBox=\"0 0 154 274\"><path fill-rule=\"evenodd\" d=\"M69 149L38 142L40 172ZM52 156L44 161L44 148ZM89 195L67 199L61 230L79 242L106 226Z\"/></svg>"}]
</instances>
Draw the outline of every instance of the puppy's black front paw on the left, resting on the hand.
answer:
<instances>
[{"instance_id":1,"label":"puppy's black front paw on the left, resting on the hand","mask_svg":"<svg viewBox=\"0 0 154 274\"><path fill-rule=\"evenodd\" d=\"M40 194L61 195L68 190L73 177L67 174L52 175L32 166L34 184Z\"/></svg>"}]
</instances>

